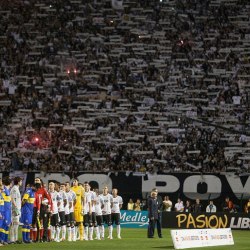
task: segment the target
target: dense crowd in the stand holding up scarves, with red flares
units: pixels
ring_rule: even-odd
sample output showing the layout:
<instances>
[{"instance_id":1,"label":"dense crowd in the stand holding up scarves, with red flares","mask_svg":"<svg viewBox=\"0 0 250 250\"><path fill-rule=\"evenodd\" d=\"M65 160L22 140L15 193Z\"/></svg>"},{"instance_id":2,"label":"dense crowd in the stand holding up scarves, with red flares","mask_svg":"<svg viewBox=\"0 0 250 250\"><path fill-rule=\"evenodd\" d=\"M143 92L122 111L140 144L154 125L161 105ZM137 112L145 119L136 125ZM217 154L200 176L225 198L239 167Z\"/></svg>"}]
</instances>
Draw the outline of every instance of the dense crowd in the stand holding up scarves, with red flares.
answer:
<instances>
[{"instance_id":1,"label":"dense crowd in the stand holding up scarves, with red flares","mask_svg":"<svg viewBox=\"0 0 250 250\"><path fill-rule=\"evenodd\" d=\"M1 171L249 173L249 11L1 1Z\"/></svg>"}]
</instances>

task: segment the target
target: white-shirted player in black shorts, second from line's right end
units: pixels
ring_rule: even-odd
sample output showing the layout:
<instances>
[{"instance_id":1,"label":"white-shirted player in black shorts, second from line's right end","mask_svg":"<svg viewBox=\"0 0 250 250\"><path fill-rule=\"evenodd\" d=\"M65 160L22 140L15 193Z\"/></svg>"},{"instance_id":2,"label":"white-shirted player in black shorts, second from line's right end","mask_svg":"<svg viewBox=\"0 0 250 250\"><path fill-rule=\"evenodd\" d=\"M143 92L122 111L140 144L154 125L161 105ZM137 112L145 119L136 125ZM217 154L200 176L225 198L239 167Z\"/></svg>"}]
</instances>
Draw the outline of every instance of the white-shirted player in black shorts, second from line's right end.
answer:
<instances>
[{"instance_id":1,"label":"white-shirted player in black shorts, second from line's right end","mask_svg":"<svg viewBox=\"0 0 250 250\"><path fill-rule=\"evenodd\" d=\"M102 216L103 216L103 222L108 225L108 232L109 236L108 238L112 240L112 220L111 220L111 203L113 200L113 197L111 194L108 192L108 187L105 186L103 188L103 193L100 195L101 198L103 199L103 208L102 208ZM102 231L101 235L102 239L104 239L104 230Z\"/></svg>"}]
</instances>

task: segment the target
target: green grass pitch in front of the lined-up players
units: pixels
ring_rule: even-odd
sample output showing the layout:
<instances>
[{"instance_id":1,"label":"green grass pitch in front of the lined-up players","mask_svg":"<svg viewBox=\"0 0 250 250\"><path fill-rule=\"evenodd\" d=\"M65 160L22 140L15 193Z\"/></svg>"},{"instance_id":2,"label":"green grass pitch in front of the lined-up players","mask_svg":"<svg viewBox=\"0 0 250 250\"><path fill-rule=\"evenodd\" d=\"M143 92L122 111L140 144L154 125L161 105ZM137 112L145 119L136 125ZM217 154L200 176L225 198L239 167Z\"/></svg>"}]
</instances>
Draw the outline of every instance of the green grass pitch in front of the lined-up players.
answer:
<instances>
[{"instance_id":1,"label":"green grass pitch in front of the lined-up players","mask_svg":"<svg viewBox=\"0 0 250 250\"><path fill-rule=\"evenodd\" d=\"M58 250L77 250L77 249L126 249L126 250L144 250L144 249L174 249L172 239L170 236L169 229L163 229L163 238L146 238L146 229L122 229L122 239L118 240L114 238L113 240L102 240L102 241L76 241L76 242L51 242L51 243L32 243L32 244L18 244L18 245L8 245L4 249L58 249ZM114 229L113 235L116 235ZM237 249L237 250L249 250L249 236L250 231L233 231L234 246L220 246L220 247L205 247L202 249ZM198 248L196 248L198 249ZM201 248L199 248L201 249Z\"/></svg>"}]
</instances>

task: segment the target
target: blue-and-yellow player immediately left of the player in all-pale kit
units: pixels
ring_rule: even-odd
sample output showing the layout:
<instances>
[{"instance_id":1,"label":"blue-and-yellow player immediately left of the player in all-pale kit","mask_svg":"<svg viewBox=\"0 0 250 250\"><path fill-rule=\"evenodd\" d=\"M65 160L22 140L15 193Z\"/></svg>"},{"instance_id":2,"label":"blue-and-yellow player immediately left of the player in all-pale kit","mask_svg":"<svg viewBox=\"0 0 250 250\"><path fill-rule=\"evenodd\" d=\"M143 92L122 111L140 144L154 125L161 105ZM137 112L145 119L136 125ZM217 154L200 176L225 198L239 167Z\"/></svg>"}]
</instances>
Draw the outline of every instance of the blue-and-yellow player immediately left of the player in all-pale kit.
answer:
<instances>
[{"instance_id":1,"label":"blue-and-yellow player immediately left of the player in all-pale kit","mask_svg":"<svg viewBox=\"0 0 250 250\"><path fill-rule=\"evenodd\" d=\"M11 223L11 197L10 197L10 185L11 179L9 177L3 178L3 191L2 196L4 199L4 212L3 212L3 226L2 226L2 241L8 243L9 227Z\"/></svg>"}]
</instances>

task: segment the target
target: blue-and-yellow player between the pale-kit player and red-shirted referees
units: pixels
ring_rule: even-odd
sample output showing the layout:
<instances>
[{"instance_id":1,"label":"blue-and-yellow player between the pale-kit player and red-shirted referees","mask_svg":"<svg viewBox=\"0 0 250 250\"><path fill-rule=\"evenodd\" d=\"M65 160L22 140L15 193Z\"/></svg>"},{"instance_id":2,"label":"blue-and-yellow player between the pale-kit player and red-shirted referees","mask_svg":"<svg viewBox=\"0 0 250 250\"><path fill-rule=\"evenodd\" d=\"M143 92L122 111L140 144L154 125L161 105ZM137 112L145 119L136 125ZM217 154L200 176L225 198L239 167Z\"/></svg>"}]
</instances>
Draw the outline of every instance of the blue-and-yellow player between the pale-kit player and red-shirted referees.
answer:
<instances>
[{"instance_id":1,"label":"blue-and-yellow player between the pale-kit player and red-shirted referees","mask_svg":"<svg viewBox=\"0 0 250 250\"><path fill-rule=\"evenodd\" d=\"M22 199L20 221L23 223L22 238L24 243L30 243L30 226L32 224L35 191L34 186L27 188Z\"/></svg>"}]
</instances>

